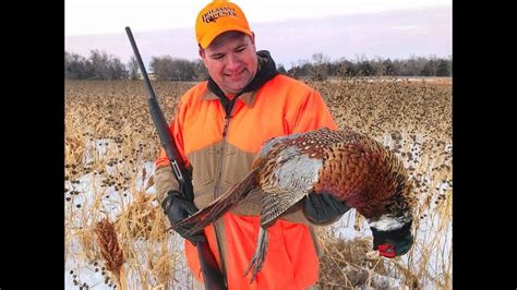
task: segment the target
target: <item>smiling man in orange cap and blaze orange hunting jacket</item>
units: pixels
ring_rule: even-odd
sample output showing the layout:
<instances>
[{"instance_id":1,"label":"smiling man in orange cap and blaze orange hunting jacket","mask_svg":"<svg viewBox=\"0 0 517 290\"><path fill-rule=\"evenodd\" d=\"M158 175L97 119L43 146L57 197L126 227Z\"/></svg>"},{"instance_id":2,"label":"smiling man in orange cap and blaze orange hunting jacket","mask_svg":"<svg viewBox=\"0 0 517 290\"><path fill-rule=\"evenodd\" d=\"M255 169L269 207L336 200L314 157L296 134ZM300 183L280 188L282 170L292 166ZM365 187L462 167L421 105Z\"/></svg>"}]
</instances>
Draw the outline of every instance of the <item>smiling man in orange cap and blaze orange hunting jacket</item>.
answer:
<instances>
[{"instance_id":1,"label":"smiling man in orange cap and blaze orange hunting jacket","mask_svg":"<svg viewBox=\"0 0 517 290\"><path fill-rule=\"evenodd\" d=\"M241 9L228 1L208 3L197 15L199 53L209 80L187 92L170 130L185 165L192 168L194 201L179 194L161 150L156 161L157 195L176 223L239 182L269 138L327 126L337 129L321 95L278 74L269 52L255 50L255 35ZM345 212L332 197L305 198L303 210L269 228L265 263L256 279L243 277L256 244L262 192L249 193L235 209L204 229L228 289L306 289L316 283L321 250L311 223L328 225ZM310 221L309 221L309 220ZM176 229L185 242L194 288L203 288L193 243L200 234Z\"/></svg>"}]
</instances>

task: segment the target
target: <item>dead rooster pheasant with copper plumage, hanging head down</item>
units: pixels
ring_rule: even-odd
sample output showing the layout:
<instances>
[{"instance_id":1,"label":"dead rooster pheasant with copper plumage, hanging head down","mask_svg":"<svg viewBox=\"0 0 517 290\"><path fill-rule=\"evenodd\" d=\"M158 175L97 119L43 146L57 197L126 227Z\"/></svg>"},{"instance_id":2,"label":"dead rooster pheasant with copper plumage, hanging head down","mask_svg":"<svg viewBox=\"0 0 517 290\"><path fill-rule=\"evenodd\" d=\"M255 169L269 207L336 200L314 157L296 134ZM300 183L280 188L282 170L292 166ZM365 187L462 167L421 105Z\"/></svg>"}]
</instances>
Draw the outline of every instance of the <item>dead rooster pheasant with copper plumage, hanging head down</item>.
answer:
<instances>
[{"instance_id":1,"label":"dead rooster pheasant with copper plumage, hanging head down","mask_svg":"<svg viewBox=\"0 0 517 290\"><path fill-rule=\"evenodd\" d=\"M267 228L284 214L300 209L309 194L330 194L369 220L374 250L386 257L402 255L412 244L412 183L401 161L375 140L346 128L326 128L266 142L251 171L208 206L177 226L194 223L197 232L220 218L261 186L261 227L251 282L266 255Z\"/></svg>"}]
</instances>

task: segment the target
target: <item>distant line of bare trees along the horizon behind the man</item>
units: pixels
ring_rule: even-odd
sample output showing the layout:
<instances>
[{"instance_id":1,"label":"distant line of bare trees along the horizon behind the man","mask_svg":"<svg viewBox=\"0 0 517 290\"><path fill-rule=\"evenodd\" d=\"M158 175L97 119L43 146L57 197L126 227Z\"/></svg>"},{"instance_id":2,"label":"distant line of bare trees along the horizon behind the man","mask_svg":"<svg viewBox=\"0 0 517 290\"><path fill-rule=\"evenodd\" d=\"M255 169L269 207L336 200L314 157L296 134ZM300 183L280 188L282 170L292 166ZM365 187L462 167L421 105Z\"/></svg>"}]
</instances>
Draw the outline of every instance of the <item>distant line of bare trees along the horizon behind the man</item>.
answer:
<instances>
[{"instance_id":1,"label":"distant line of bare trees along the horizon behind the man","mask_svg":"<svg viewBox=\"0 0 517 290\"><path fill-rule=\"evenodd\" d=\"M160 81L202 81L208 72L201 59L191 61L170 56L153 57L149 62L151 73ZM346 58L330 61L323 53L314 53L311 60L301 60L286 70L278 64L278 71L297 78L323 81L327 77L350 76L450 76L452 58L411 57L406 60L390 60L364 57L356 60ZM64 52L64 76L68 80L137 80L141 77L136 59L128 63L100 50L91 50L85 58L76 53Z\"/></svg>"}]
</instances>

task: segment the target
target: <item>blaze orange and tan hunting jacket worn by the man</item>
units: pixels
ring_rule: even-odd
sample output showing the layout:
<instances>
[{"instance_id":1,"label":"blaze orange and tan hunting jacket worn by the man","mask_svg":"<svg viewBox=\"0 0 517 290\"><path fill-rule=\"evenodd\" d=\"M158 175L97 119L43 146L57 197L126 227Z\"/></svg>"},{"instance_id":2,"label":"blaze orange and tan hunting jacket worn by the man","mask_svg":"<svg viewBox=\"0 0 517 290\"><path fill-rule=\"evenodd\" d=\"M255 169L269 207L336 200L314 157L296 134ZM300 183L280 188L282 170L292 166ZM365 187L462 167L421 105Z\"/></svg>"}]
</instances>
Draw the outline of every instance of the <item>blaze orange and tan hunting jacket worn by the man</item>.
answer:
<instances>
[{"instance_id":1,"label":"blaze orange and tan hunting jacket worn by the man","mask_svg":"<svg viewBox=\"0 0 517 290\"><path fill-rule=\"evenodd\" d=\"M242 162L249 169L252 162L249 156L258 153L267 140L322 126L337 129L321 95L302 82L277 75L258 90L239 96L229 119L217 96L207 89L207 82L197 84L181 98L170 130L181 156L193 165L194 202L201 208L216 197L213 192L220 195L231 186L225 180L237 182L236 174L245 176L245 170L231 169ZM156 166L168 166L164 150ZM211 173L201 174L196 170ZM216 259L224 265L229 290L304 289L316 282L316 241L309 226L278 220L270 227L263 268L250 285L250 274L248 277L243 274L255 250L260 217L228 212L221 220L219 233L211 225L205 228L205 234ZM224 263L221 246L226 253ZM197 252L189 241L185 241L185 253L194 277L202 280Z\"/></svg>"}]
</instances>

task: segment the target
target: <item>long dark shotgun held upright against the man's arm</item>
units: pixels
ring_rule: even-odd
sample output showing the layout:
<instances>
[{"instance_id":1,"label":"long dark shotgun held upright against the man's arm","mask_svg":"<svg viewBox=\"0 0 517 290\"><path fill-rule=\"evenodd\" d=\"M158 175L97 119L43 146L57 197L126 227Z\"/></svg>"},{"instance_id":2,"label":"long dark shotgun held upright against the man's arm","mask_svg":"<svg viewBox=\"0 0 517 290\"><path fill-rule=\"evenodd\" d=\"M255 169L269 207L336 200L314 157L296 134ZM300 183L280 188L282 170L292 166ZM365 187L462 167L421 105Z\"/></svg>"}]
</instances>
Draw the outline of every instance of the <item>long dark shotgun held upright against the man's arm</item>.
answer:
<instances>
[{"instance_id":1,"label":"long dark shotgun held upright against the man's arm","mask_svg":"<svg viewBox=\"0 0 517 290\"><path fill-rule=\"evenodd\" d=\"M172 172L175 172L175 176L178 179L178 183L180 184L183 197L189 201L193 201L194 191L192 188L191 174L189 171L187 171L187 168L183 164L183 159L181 158L178 152L172 134L170 134L169 125L164 117L164 112L159 107L155 92L151 86L149 77L145 70L144 63L142 62L139 48L136 47L136 43L133 38L133 33L131 33L131 28L125 27L125 33L128 34L128 37L130 39L131 47L133 48L134 56L136 58L136 61L139 62L140 71L142 72L142 76L144 78L145 87L147 88L147 105L149 107L151 117L153 118L153 122L155 123L156 131L158 132L161 146L164 147L167 157L169 158L170 166L172 167ZM200 257L201 270L203 274L203 280L205 282L205 289L227 289L225 285L225 279L223 277L223 274L220 273L214 253L212 253L208 246L208 242L196 242L195 246L197 249L197 256Z\"/></svg>"}]
</instances>

